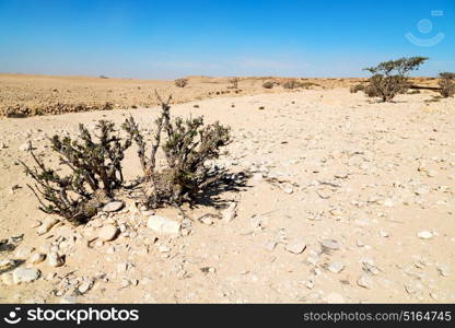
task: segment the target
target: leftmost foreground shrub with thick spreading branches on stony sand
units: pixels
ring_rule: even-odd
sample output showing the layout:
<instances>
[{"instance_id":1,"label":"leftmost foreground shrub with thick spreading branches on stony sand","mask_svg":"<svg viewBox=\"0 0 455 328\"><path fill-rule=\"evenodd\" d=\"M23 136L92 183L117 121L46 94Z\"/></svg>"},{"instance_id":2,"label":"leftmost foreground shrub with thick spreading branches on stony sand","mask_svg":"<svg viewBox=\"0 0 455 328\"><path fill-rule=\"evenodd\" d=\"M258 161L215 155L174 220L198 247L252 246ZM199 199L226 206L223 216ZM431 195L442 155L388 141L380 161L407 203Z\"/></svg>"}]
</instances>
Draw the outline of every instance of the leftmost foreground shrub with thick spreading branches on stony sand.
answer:
<instances>
[{"instance_id":1,"label":"leftmost foreground shrub with thick spreading branches on stony sand","mask_svg":"<svg viewBox=\"0 0 455 328\"><path fill-rule=\"evenodd\" d=\"M25 173L35 180L27 185L39 202L39 209L49 214L58 214L71 223L84 223L95 215L100 206L113 196L124 181L121 161L131 139L122 141L114 129L114 124L100 120L94 138L83 126L79 126L80 137L54 136L52 150L60 156L60 165L70 173L66 176L46 167L30 145L30 152L37 166L31 168L21 162Z\"/></svg>"}]
</instances>

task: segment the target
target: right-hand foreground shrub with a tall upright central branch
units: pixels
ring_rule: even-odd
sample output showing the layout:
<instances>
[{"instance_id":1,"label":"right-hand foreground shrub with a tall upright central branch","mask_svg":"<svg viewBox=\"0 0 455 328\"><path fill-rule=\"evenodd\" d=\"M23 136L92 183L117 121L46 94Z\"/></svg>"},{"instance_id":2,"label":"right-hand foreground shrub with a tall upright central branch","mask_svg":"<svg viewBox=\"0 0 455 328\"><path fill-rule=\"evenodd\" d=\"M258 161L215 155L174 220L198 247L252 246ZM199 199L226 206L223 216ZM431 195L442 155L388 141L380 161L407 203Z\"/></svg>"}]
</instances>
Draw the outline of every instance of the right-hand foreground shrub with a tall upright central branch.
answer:
<instances>
[{"instance_id":1,"label":"right-hand foreground shrub with a tall upright central branch","mask_svg":"<svg viewBox=\"0 0 455 328\"><path fill-rule=\"evenodd\" d=\"M154 140L150 155L138 125L130 117L124 125L138 144L138 155L144 173L145 206L156 208L192 202L196 196L220 178L208 162L220 155L220 149L230 142L230 129L219 122L205 125L202 117L171 119L168 97L161 102L161 115L155 120ZM162 140L162 134L164 139ZM156 165L161 148L166 165Z\"/></svg>"}]
</instances>

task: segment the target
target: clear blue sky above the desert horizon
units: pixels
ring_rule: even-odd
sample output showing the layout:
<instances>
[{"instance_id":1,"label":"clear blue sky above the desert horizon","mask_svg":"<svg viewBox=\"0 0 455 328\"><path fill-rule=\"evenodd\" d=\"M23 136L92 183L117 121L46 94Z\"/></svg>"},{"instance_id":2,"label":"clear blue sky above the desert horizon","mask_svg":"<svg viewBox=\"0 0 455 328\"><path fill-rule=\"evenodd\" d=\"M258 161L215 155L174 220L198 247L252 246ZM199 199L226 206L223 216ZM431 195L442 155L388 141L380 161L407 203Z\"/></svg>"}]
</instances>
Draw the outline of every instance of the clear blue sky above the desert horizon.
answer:
<instances>
[{"instance_id":1,"label":"clear blue sky above the desert horizon","mask_svg":"<svg viewBox=\"0 0 455 328\"><path fill-rule=\"evenodd\" d=\"M364 77L402 56L455 71L454 0L0 0L0 72Z\"/></svg>"}]
</instances>

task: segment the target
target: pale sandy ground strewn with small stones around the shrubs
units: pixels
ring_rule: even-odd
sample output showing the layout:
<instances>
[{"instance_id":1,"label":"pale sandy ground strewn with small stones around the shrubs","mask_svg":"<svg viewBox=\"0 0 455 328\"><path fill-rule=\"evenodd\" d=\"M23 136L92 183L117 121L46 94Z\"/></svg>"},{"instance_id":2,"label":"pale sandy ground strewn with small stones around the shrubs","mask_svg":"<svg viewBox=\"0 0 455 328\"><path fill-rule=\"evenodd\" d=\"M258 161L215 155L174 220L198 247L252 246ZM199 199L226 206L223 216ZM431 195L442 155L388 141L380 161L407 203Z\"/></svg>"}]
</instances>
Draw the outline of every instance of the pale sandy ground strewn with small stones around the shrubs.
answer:
<instances>
[{"instance_id":1,"label":"pale sandy ground strewn with small stones around the shrubs","mask_svg":"<svg viewBox=\"0 0 455 328\"><path fill-rule=\"evenodd\" d=\"M422 92L383 104L335 87L173 106L174 115L231 126L234 142L219 164L253 174L240 191L218 195L218 206L185 208L192 220L178 237L148 229L152 213L127 198L120 212L80 227L60 222L38 236L36 222L49 215L36 209L16 162L30 163L20 149L32 140L56 164L45 134L74 134L79 122L120 124L131 114L150 128L156 107L3 118L0 239L24 236L0 260L23 258L18 266L40 277L15 284L14 268L1 270L0 302L453 303L455 103L431 98ZM132 150L125 169L139 174ZM217 218L223 202L236 203L231 222ZM182 220L175 209L156 213ZM109 223L119 236L91 242ZM31 263L49 251L65 255L65 265Z\"/></svg>"}]
</instances>

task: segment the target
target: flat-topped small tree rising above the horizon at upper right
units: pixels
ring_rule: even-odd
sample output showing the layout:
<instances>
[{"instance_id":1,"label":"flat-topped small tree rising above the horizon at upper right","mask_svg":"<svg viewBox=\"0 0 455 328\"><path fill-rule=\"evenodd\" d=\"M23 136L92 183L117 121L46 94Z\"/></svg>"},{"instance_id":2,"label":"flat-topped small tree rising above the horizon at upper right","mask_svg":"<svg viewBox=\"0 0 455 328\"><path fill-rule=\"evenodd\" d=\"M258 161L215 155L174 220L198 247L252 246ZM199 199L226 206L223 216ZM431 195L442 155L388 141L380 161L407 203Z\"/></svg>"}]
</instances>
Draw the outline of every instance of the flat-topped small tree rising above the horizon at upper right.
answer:
<instances>
[{"instance_id":1,"label":"flat-topped small tree rising above the horizon at upper right","mask_svg":"<svg viewBox=\"0 0 455 328\"><path fill-rule=\"evenodd\" d=\"M370 97L380 97L383 102L392 101L397 94L408 91L408 73L417 70L427 59L425 57L400 58L365 68L373 74L364 89L365 94Z\"/></svg>"}]
</instances>

